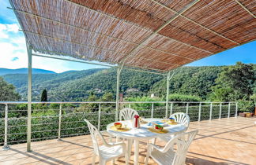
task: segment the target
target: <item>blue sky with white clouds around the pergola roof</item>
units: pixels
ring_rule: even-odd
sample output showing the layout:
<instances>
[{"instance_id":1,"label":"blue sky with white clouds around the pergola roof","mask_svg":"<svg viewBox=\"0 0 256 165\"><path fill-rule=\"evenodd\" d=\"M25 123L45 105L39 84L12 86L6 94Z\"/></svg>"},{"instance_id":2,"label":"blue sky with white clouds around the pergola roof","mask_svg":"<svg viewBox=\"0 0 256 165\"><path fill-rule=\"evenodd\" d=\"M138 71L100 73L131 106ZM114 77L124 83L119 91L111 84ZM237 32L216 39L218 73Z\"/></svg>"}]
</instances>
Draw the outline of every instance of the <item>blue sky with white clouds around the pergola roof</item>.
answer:
<instances>
[{"instance_id":1,"label":"blue sky with white clouds around the pergola roof","mask_svg":"<svg viewBox=\"0 0 256 165\"><path fill-rule=\"evenodd\" d=\"M8 0L0 0L0 68L27 68L28 57L24 35L19 29L16 16L10 7ZM232 65L237 61L246 64L256 64L256 41L238 46L233 49L217 53L199 61L187 64L187 66L220 66ZM60 61L43 57L32 58L32 68L41 68L54 72L66 72L69 70L84 70L89 68L103 68L92 64L81 64L70 61Z\"/></svg>"}]
</instances>

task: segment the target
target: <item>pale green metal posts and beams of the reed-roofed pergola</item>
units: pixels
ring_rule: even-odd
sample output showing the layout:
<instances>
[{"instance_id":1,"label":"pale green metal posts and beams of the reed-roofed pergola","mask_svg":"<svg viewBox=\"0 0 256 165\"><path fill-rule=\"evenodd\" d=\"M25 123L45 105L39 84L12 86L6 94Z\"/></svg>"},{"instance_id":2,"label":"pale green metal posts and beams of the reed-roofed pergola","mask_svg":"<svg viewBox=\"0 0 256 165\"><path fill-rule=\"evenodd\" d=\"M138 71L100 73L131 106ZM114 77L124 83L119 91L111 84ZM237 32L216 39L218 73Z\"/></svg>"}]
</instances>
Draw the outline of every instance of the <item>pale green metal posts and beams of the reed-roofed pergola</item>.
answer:
<instances>
[{"instance_id":1,"label":"pale green metal posts and beams of the reed-roofed pergola","mask_svg":"<svg viewBox=\"0 0 256 165\"><path fill-rule=\"evenodd\" d=\"M67 1L67 0L66 0ZM151 0L152 2L156 2L154 0ZM170 24L173 20L175 20L178 16L182 16L183 18L185 19L189 19L187 18L186 16L183 16L183 13L185 13L185 11L187 9L189 9L191 6L194 6L196 3L198 3L200 0L194 0L194 2L191 2L189 6L186 6L183 10L181 10L179 13L178 12L175 12L174 10L170 9L169 7L167 6L164 6L163 4L160 4L159 2L156 2L157 4L159 4L160 6L164 7L165 9L168 9L172 12L175 12L176 16L171 18L170 20L168 20L165 24L163 24L162 26L160 26L158 29L156 29L156 31L153 31L152 35L156 35L161 29L163 29L165 26L167 26L168 24ZM243 4L241 4L239 1L235 0L235 2L237 2L239 4L239 6L242 6L243 9L247 10L248 13L250 13L250 11L245 7L243 6ZM14 6L13 6L13 3L10 2L9 0L9 3L11 5L12 8L9 8L9 9L13 9L13 12L15 13L15 15L17 16L17 12L21 12L21 11L17 11ZM80 6L78 4L76 4L77 6ZM85 6L83 6L85 7ZM93 10L93 9L90 9L90 10ZM97 11L96 11L97 12ZM103 13L102 13L103 14ZM106 14L105 14L106 15ZM251 16L254 16L253 13L250 13ZM35 15L36 16L36 15ZM108 16L108 15L106 15ZM108 17L111 17L115 20L120 20L120 19L117 19L113 16L108 16ZM255 18L255 16L254 16ZM19 19L17 19L19 24L21 25L21 31L24 32L24 35L25 35L25 38L27 39L27 36L26 36L26 31L24 31L24 28L22 27L22 24L20 22ZM190 21L193 21L193 20L190 20ZM194 22L194 21L193 21ZM207 27L204 27L202 26L201 24L198 24L196 22L194 22L194 24L197 24L198 26L204 28L205 30L207 31L211 31L213 32L215 35L218 35L222 38L226 38L224 35L220 35L218 33L216 33L215 31L212 31L210 30L209 28ZM118 120L118 113L119 113L119 89L120 89L120 75L121 75L121 72L122 72L122 69L130 69L130 70L133 70L133 71L137 71L137 72L147 72L147 73L152 73L152 74L157 74L157 75L164 75L164 76L167 76L167 86L166 86L166 117L168 117L168 95L169 95L169 86L170 86L170 80L172 78L172 76L175 74L175 70L171 70L171 71L168 71L168 72L158 72L159 70L157 69L152 69L154 70L154 72L152 71L149 71L149 70L143 70L143 69L147 69L147 68L142 68L141 70L139 70L139 67L137 68L128 68L128 67L125 67L124 64L126 62L126 60L131 57L131 56L134 56L134 52L135 50L139 49L145 42L147 42L149 40L149 38L152 36L152 35L149 35L148 38L146 38L143 42L141 42L138 46L136 46L135 49L133 49L132 52L130 52L122 61L121 61L121 64L119 64L118 66L117 65L109 65L109 64L100 64L100 63L93 63L93 62L88 62L88 61L78 61L78 60L71 60L71 59L67 59L67 58L61 58L61 57L53 57L53 56L46 56L46 55L42 55L42 54L36 54L36 53L32 53L32 46L29 46L28 45L28 41L26 40L26 46L27 46L27 53L28 53L28 130L27 130L27 151L30 152L32 151L31 150L31 113L32 113L32 56L35 56L35 57L47 57L47 58L52 58L52 59L56 59L56 60L63 60L63 61L73 61L73 62L79 62L79 63L85 63L85 64L96 64L96 65L101 65L101 66L104 66L104 67L117 67L117 85L116 85L116 111L115 111L115 120ZM235 42L233 41L232 39L230 38L226 38L228 39L229 41L231 42ZM238 44L237 42L235 42L236 44ZM245 42L247 43L247 42ZM243 44L245 44L243 43ZM185 43L183 43L185 44ZM243 44L238 44L236 46L241 46ZM190 46L190 45L189 45ZM192 46L194 47L194 46ZM233 46L235 47L235 46ZM231 47L230 49L232 49L233 47ZM199 48L197 48L199 49ZM36 51L36 49L34 49ZM203 51L207 51L207 50L204 50L204 49L201 49ZM227 49L225 49L227 50ZM225 51L224 50L224 51ZM50 51L48 51L50 53ZM207 51L209 52L209 51ZM212 53L212 52L209 52L209 56L212 56L213 54L215 53ZM220 52L218 52L220 53ZM58 54L62 54L62 53L58 53ZM62 54L64 56L67 56L67 54ZM69 54L70 55L70 54ZM193 60L193 61L196 61L196 60ZM193 62L193 61L190 61L190 62ZM180 66L181 67L181 66ZM149 68L150 69L150 68ZM171 72L172 72L172 75L171 75Z\"/></svg>"}]
</instances>

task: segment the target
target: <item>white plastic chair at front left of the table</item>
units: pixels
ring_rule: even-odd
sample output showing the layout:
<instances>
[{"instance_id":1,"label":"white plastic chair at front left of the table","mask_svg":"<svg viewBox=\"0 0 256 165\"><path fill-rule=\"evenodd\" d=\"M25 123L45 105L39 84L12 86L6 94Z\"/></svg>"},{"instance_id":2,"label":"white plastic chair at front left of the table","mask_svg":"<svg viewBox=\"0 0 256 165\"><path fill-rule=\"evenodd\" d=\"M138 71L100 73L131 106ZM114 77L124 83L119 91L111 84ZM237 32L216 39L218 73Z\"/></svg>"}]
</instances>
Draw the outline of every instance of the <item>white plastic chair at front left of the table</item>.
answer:
<instances>
[{"instance_id":1,"label":"white plastic chair at front left of the table","mask_svg":"<svg viewBox=\"0 0 256 165\"><path fill-rule=\"evenodd\" d=\"M99 156L100 158L100 165L106 164L107 161L114 161L116 158L125 156L127 165L129 160L128 155L126 153L126 144L122 142L111 144L107 143L107 141L105 141L100 131L96 127L94 127L92 123L88 121L88 119L85 119L85 122L88 125L88 129L90 131L92 138L92 145L94 148L92 156L92 165L95 164L96 156ZM100 140L103 142L103 145L99 146L97 138L100 138Z\"/></svg>"}]
</instances>

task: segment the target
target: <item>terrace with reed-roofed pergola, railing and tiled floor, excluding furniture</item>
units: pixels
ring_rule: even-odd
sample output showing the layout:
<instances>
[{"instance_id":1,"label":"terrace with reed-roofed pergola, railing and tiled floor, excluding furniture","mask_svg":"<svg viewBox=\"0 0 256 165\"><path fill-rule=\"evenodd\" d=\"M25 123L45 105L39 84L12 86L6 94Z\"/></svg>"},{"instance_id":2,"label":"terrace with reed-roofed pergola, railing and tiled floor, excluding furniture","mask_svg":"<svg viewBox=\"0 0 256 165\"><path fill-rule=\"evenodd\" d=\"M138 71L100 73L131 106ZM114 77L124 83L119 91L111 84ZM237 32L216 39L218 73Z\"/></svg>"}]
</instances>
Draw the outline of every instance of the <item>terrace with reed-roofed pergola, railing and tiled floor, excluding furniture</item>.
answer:
<instances>
[{"instance_id":1,"label":"terrace with reed-roofed pergola, railing and tiled floor, excluding furniture","mask_svg":"<svg viewBox=\"0 0 256 165\"><path fill-rule=\"evenodd\" d=\"M189 130L199 130L199 134L186 163L256 162L254 119L237 117L237 103L168 100L175 68L255 40L253 0L9 2L27 43L28 101L0 103L5 116L1 119L5 151L0 152L0 163L89 164L92 141L82 119L90 118L104 132L107 123L118 120L119 110L129 106L151 118L188 114L192 121ZM33 56L117 68L116 102L55 102L52 105L59 107L49 108L51 116L42 116L45 109L35 105L51 103L32 102ZM120 102L122 69L166 76L166 101ZM27 107L15 109L16 104ZM82 104L97 106L77 107ZM141 164L145 145L140 142ZM122 164L124 159L116 163ZM149 163L153 164L152 159Z\"/></svg>"}]
</instances>

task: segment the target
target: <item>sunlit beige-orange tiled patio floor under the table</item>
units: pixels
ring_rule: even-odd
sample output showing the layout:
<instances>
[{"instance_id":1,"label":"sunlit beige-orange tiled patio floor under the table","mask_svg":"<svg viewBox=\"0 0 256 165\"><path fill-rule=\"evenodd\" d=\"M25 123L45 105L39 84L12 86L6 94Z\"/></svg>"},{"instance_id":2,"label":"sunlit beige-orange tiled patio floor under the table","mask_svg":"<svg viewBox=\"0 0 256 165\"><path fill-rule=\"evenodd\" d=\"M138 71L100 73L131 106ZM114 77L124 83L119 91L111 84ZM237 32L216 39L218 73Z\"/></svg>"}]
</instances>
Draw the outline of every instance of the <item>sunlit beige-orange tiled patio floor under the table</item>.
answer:
<instances>
[{"instance_id":1,"label":"sunlit beige-orange tiled patio floor under the table","mask_svg":"<svg viewBox=\"0 0 256 165\"><path fill-rule=\"evenodd\" d=\"M187 153L187 164L256 164L256 118L213 119L190 123L190 130L199 130ZM144 164L145 141L140 143L140 163ZM162 143L160 145L163 145ZM92 145L89 136L64 138L11 145L0 151L0 164L91 164ZM134 157L131 156L130 164ZM109 163L111 164L111 163ZM125 164L118 159L115 164ZM156 164L150 159L149 164Z\"/></svg>"}]
</instances>

